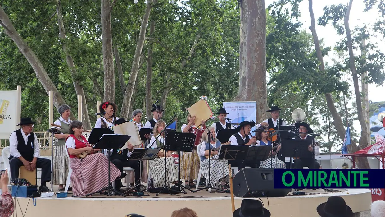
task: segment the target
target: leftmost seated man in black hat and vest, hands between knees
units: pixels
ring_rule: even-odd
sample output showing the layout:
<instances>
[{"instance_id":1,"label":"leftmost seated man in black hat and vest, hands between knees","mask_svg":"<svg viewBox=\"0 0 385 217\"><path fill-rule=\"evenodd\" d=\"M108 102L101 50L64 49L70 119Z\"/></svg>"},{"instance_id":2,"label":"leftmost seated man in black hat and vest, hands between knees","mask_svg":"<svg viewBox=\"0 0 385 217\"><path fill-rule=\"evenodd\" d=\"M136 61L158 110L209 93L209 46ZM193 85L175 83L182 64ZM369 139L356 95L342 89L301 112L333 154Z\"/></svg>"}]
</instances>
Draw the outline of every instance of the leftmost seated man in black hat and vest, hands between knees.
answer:
<instances>
[{"instance_id":1,"label":"leftmost seated man in black hat and vest, hands between knees","mask_svg":"<svg viewBox=\"0 0 385 217\"><path fill-rule=\"evenodd\" d=\"M19 177L19 167L24 166L28 171L36 168L42 169L42 183L39 192L49 192L45 183L51 181L51 161L40 158L40 147L35 133L32 133L33 124L31 118L21 118L19 130L15 130L9 136L10 157L9 165L11 180Z\"/></svg>"}]
</instances>

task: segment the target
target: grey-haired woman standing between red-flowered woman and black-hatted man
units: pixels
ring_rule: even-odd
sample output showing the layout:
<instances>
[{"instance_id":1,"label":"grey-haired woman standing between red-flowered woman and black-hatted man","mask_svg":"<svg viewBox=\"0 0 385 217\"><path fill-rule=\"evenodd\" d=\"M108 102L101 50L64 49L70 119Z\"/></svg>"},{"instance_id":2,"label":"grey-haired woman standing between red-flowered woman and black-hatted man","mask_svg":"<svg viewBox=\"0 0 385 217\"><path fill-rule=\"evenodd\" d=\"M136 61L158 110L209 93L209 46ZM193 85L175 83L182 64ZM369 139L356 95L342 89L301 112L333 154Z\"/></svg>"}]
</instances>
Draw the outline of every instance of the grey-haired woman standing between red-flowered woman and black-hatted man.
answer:
<instances>
[{"instance_id":1,"label":"grey-haired woman standing between red-flowered woman and black-hatted man","mask_svg":"<svg viewBox=\"0 0 385 217\"><path fill-rule=\"evenodd\" d=\"M131 116L131 119L133 119L135 122L136 122L136 125L138 126L138 130L141 130L143 126L143 124L141 123L141 120L142 120L142 114L143 114L143 111L141 109L136 109L132 112L132 116ZM150 134L146 134L144 135L144 137L146 138L146 140L142 140L142 147L147 147L148 145L148 139L150 138ZM142 148L141 145L136 145L134 146L134 148ZM127 174L127 177L129 180L129 183L131 183L132 185L134 185L134 174L132 173L132 171L129 171L128 174ZM142 182L147 182L148 180L148 176L147 176L147 160L144 160L143 161L143 172L142 172Z\"/></svg>"}]
</instances>

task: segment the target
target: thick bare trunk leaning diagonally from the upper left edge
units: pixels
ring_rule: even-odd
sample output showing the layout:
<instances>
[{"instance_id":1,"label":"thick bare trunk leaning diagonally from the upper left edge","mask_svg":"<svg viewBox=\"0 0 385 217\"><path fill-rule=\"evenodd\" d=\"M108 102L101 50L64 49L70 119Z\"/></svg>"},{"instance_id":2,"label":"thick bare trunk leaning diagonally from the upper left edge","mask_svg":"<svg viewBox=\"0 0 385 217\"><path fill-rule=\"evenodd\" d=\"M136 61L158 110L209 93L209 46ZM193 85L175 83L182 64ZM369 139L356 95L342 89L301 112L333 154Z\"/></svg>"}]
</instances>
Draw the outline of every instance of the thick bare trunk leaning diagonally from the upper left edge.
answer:
<instances>
[{"instance_id":1,"label":"thick bare trunk leaning diagonally from the upper left edge","mask_svg":"<svg viewBox=\"0 0 385 217\"><path fill-rule=\"evenodd\" d=\"M66 104L62 95L57 90L56 86L48 76L47 72L45 71L42 63L40 62L39 58L33 53L33 51L28 47L27 43L23 40L23 38L17 33L15 27L13 27L13 24L11 20L9 19L8 15L4 12L3 8L0 5L0 25L4 28L5 34L7 34L13 42L17 45L18 49L20 50L20 53L22 53L29 62L29 64L32 66L33 71L35 71L37 79L39 79L40 83L45 89L45 92L49 94L49 91L54 91L54 105L56 109L59 109L59 106L62 104ZM70 115L70 119L75 119L74 115Z\"/></svg>"}]
</instances>

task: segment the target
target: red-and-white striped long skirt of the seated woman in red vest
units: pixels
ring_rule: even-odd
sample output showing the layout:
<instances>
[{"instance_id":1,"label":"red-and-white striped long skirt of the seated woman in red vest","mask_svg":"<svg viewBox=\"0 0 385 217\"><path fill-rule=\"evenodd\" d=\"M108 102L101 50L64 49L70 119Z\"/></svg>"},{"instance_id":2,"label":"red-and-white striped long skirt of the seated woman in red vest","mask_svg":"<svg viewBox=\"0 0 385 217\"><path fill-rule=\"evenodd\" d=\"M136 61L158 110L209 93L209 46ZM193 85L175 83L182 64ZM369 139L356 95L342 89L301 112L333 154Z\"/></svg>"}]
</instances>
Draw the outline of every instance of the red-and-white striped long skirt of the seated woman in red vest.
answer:
<instances>
[{"instance_id":1,"label":"red-and-white striped long skirt of the seated woman in red vest","mask_svg":"<svg viewBox=\"0 0 385 217\"><path fill-rule=\"evenodd\" d=\"M108 160L102 153L87 155L83 159L70 158L72 168L72 195L84 196L108 185ZM111 179L114 181L121 172L111 163Z\"/></svg>"}]
</instances>

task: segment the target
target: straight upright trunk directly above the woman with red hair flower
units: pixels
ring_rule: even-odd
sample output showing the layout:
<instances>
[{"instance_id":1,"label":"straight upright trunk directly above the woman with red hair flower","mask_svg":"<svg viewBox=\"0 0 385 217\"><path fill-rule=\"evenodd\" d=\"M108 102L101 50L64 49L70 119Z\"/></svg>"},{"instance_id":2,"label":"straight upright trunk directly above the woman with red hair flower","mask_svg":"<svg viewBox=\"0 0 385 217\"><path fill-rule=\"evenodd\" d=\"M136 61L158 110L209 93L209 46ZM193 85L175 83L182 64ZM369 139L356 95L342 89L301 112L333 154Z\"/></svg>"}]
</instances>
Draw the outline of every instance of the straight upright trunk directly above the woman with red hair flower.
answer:
<instances>
[{"instance_id":1,"label":"straight upright trunk directly above the woman with red hair flower","mask_svg":"<svg viewBox=\"0 0 385 217\"><path fill-rule=\"evenodd\" d=\"M101 0L102 13L102 50L104 71L104 101L115 102L115 71L112 55L111 10L110 0Z\"/></svg>"}]
</instances>

